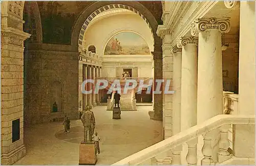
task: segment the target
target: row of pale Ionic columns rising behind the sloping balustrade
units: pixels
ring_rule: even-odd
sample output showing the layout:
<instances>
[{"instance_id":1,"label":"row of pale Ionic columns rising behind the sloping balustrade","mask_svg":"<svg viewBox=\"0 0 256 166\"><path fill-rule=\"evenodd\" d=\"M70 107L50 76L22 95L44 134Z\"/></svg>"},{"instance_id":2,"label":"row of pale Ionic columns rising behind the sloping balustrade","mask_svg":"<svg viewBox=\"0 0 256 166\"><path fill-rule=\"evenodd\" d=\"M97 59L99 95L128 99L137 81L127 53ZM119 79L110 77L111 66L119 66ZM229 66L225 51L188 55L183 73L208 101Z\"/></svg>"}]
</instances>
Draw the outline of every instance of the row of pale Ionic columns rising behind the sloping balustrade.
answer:
<instances>
[{"instance_id":1,"label":"row of pale Ionic columns rising behind the sloping balustrade","mask_svg":"<svg viewBox=\"0 0 256 166\"><path fill-rule=\"evenodd\" d=\"M199 18L191 26L191 35L181 36L175 45L169 31L161 32L163 78L173 79L175 90L163 95L165 139L222 114L221 34L229 30L229 18ZM185 121L181 124L181 120Z\"/></svg>"}]
</instances>

